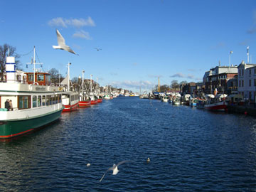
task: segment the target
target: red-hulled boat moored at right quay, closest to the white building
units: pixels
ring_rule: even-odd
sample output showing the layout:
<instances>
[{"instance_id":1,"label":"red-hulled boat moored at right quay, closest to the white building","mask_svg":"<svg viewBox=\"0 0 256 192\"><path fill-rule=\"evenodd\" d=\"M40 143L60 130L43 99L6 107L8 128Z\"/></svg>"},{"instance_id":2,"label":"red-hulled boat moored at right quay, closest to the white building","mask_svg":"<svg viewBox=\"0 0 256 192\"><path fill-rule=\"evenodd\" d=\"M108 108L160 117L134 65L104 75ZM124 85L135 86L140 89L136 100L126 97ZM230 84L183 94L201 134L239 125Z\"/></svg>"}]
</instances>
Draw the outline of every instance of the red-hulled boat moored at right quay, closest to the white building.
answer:
<instances>
[{"instance_id":1,"label":"red-hulled boat moored at right quay, closest to the white building","mask_svg":"<svg viewBox=\"0 0 256 192\"><path fill-rule=\"evenodd\" d=\"M206 95L207 97L208 95ZM228 102L225 100L228 95L218 94L214 97L207 97L206 104L204 105L206 110L212 111L227 111Z\"/></svg>"}]
</instances>

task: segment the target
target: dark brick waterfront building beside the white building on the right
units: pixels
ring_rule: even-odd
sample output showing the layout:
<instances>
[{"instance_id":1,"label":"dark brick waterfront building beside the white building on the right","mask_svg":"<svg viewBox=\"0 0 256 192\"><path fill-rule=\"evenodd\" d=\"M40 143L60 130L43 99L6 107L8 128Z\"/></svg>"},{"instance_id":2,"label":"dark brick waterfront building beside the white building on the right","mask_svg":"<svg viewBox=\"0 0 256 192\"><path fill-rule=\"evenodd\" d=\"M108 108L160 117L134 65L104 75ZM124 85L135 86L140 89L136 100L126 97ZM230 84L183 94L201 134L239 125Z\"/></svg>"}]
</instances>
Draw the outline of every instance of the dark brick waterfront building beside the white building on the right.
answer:
<instances>
[{"instance_id":1,"label":"dark brick waterfront building beside the white building on the right","mask_svg":"<svg viewBox=\"0 0 256 192\"><path fill-rule=\"evenodd\" d=\"M214 90L217 89L220 93L228 94L227 82L238 75L238 66L217 66L215 68L206 71L203 81L206 85L206 94L213 94Z\"/></svg>"}]
</instances>

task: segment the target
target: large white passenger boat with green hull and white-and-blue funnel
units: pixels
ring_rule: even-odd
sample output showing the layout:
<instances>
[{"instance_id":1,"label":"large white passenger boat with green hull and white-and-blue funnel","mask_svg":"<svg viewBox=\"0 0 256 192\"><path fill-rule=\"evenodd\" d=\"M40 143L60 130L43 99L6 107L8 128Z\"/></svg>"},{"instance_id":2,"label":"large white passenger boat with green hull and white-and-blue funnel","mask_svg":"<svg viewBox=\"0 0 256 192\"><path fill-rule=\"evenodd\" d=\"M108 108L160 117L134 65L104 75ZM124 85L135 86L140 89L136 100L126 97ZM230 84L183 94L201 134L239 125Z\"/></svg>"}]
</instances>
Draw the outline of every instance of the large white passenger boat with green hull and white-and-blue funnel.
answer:
<instances>
[{"instance_id":1,"label":"large white passenger boat with green hull and white-and-blue funnel","mask_svg":"<svg viewBox=\"0 0 256 192\"><path fill-rule=\"evenodd\" d=\"M36 72L35 59L30 64L34 65L33 74L18 73L15 58L6 58L6 80L0 82L0 139L43 127L59 119L63 111L63 90L50 85L50 74ZM12 100L11 109L8 100Z\"/></svg>"}]
</instances>

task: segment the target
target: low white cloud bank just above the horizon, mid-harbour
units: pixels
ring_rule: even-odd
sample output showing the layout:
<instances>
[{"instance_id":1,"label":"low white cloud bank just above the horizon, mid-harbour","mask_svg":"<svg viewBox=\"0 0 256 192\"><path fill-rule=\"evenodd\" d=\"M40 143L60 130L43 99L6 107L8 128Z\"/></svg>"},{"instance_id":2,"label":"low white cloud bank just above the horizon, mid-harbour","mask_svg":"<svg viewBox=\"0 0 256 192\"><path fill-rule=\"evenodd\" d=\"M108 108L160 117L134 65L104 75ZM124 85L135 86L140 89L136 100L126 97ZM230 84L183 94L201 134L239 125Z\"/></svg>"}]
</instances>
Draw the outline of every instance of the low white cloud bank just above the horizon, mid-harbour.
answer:
<instances>
[{"instance_id":1,"label":"low white cloud bank just above the horizon, mid-harbour","mask_svg":"<svg viewBox=\"0 0 256 192\"><path fill-rule=\"evenodd\" d=\"M131 80L126 80L123 82L112 82L112 85L117 86L117 87L124 87L124 88L135 88L139 89L139 87L151 87L154 86L153 83L149 81L131 81Z\"/></svg>"}]
</instances>

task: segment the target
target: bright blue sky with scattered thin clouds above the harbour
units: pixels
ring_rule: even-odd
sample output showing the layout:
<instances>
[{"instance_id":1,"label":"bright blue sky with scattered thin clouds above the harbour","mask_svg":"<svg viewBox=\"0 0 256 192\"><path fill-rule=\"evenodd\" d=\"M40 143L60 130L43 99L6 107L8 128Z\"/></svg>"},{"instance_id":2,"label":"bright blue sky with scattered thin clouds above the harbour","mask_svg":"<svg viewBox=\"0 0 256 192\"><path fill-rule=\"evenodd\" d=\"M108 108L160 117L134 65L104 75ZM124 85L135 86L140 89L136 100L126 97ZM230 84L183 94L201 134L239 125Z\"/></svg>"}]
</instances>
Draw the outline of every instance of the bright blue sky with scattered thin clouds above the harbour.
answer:
<instances>
[{"instance_id":1,"label":"bright blue sky with scattered thin clouds above the harbour","mask_svg":"<svg viewBox=\"0 0 256 192\"><path fill-rule=\"evenodd\" d=\"M58 29L74 55L55 50ZM256 63L255 0L1 1L0 45L70 78L82 76L139 92L158 84L201 82L210 68ZM96 50L95 48L101 48ZM233 51L230 54L230 51ZM251 62L252 61L252 62ZM38 65L39 68L39 65Z\"/></svg>"}]
</instances>

